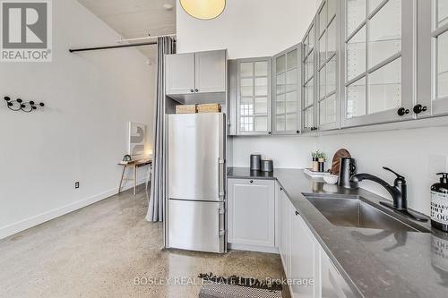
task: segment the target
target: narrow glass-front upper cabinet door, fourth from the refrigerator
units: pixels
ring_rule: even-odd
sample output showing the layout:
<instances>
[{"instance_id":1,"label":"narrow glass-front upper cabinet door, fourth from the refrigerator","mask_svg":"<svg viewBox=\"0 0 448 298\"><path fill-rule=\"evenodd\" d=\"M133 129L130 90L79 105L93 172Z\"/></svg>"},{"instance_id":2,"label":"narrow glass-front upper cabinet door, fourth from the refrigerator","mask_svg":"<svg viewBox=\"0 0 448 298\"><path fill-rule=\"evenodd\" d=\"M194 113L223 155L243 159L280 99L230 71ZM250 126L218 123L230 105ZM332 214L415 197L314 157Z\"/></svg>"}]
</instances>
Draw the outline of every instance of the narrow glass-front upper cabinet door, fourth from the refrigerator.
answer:
<instances>
[{"instance_id":1,"label":"narrow glass-front upper cabinet door, fourth from the refrigerator","mask_svg":"<svg viewBox=\"0 0 448 298\"><path fill-rule=\"evenodd\" d=\"M318 64L317 109L319 130L339 128L338 94L338 34L336 0L325 0L317 13L319 28L317 40Z\"/></svg>"}]
</instances>

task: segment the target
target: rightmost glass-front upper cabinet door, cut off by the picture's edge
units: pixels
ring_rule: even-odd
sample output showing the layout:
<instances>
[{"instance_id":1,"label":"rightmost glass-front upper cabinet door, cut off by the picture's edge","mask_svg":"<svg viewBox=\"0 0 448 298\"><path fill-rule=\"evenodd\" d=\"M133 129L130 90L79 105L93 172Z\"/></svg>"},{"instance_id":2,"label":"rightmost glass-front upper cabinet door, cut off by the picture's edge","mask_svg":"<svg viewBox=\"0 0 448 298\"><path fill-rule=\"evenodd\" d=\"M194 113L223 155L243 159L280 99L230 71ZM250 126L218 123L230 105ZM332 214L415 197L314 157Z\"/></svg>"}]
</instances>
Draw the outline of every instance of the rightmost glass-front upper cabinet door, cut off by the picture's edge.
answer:
<instances>
[{"instance_id":1,"label":"rightmost glass-front upper cabinet door, cut off by the picture's edge","mask_svg":"<svg viewBox=\"0 0 448 298\"><path fill-rule=\"evenodd\" d=\"M414 113L418 117L448 114L448 0L418 2L418 100Z\"/></svg>"}]
</instances>

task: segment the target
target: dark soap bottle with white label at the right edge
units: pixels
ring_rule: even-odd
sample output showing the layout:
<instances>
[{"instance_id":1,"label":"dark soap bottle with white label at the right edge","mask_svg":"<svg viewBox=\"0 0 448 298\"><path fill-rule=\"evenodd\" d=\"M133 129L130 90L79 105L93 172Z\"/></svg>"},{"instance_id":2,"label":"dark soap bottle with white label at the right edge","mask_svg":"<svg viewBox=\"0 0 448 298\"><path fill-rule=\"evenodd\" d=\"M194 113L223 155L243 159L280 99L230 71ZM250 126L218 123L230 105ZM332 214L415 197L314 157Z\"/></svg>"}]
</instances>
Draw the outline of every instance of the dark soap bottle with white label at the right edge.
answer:
<instances>
[{"instance_id":1,"label":"dark soap bottle with white label at the right edge","mask_svg":"<svg viewBox=\"0 0 448 298\"><path fill-rule=\"evenodd\" d=\"M448 173L431 186L431 226L448 233Z\"/></svg>"}]
</instances>

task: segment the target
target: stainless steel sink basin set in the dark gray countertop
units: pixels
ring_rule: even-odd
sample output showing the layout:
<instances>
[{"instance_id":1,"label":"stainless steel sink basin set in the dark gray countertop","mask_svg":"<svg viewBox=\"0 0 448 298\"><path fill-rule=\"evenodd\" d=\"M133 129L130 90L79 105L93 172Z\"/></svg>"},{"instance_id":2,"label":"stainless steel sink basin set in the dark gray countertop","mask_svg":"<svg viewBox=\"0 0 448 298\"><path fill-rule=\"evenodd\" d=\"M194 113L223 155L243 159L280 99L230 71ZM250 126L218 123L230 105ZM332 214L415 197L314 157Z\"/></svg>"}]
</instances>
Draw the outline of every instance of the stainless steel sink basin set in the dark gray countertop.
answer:
<instances>
[{"instance_id":1,"label":"stainless steel sink basin set in the dark gray countertop","mask_svg":"<svg viewBox=\"0 0 448 298\"><path fill-rule=\"evenodd\" d=\"M306 197L334 226L374 228L387 231L426 232L411 227L399 219L360 199Z\"/></svg>"}]
</instances>

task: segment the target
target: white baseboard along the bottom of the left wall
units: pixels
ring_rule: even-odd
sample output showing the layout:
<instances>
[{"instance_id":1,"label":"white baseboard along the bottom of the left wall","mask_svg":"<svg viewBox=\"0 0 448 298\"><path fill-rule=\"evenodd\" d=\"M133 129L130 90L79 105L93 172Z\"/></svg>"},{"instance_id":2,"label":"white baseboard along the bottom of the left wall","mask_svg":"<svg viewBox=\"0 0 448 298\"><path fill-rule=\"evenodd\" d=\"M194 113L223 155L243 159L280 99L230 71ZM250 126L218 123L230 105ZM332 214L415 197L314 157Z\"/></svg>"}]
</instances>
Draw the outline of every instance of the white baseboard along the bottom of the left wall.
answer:
<instances>
[{"instance_id":1,"label":"white baseboard along the bottom of the left wall","mask_svg":"<svg viewBox=\"0 0 448 298\"><path fill-rule=\"evenodd\" d=\"M145 183L145 180L139 181L138 185ZM129 190L133 187L132 183L125 183L123 186L123 191ZM33 217L28 217L25 219L22 219L21 221L15 222L13 224L2 226L0 227L0 239L3 239L5 237L11 236L13 234L22 232L26 229L29 229L33 226L38 226L40 224L43 224L47 222L48 220L54 219L56 217L61 217L65 214L68 214L70 212L73 212L77 209L82 209L86 206L89 206L93 203L98 202L99 200L108 199L109 197L115 195L118 192L118 188L114 188L112 190L109 190L107 192L101 192L99 194L96 194L94 196L91 196L89 198L75 201L71 204L49 210L47 212L38 214Z\"/></svg>"}]
</instances>

